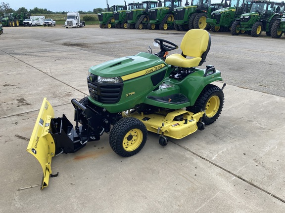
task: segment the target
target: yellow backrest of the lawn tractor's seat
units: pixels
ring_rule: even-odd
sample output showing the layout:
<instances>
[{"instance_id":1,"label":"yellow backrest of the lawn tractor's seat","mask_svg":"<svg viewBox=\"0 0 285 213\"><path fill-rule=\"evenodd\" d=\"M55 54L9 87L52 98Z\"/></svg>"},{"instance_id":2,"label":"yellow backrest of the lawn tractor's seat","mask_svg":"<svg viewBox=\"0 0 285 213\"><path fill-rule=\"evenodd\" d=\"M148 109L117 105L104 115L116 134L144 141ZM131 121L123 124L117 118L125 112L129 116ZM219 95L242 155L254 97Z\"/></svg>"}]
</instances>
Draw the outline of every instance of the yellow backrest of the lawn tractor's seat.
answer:
<instances>
[{"instance_id":1,"label":"yellow backrest of the lawn tractor's seat","mask_svg":"<svg viewBox=\"0 0 285 213\"><path fill-rule=\"evenodd\" d=\"M180 48L184 56L200 57L205 61L211 47L211 36L206 30L192 29L182 39Z\"/></svg>"}]
</instances>

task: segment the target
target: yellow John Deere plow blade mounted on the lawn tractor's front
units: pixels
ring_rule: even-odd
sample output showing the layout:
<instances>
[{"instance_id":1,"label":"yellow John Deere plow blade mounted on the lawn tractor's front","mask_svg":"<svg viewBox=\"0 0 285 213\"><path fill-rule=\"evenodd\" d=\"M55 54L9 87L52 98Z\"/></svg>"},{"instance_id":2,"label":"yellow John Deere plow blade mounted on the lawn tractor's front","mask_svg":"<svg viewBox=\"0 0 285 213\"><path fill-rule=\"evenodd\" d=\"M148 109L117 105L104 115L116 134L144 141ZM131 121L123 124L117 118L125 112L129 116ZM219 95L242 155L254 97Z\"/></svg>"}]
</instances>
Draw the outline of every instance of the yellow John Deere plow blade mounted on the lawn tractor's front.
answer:
<instances>
[{"instance_id":1,"label":"yellow John Deere plow blade mounted on the lawn tractor's front","mask_svg":"<svg viewBox=\"0 0 285 213\"><path fill-rule=\"evenodd\" d=\"M50 122L54 116L52 106L44 98L41 106L27 151L37 158L43 169L43 180L41 190L48 186L49 176L57 175L51 174L51 158L55 154L55 143L50 135Z\"/></svg>"}]
</instances>

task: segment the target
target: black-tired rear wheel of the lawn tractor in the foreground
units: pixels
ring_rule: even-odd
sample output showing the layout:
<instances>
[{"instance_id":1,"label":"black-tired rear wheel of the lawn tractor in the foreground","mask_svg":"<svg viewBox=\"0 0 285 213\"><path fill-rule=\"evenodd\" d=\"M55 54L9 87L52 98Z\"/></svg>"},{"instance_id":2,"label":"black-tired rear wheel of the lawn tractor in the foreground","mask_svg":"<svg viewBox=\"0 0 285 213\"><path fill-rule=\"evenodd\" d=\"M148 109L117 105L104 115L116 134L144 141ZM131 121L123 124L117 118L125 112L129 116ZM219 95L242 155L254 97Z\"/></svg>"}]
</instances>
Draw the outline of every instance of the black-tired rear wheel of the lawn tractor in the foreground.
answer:
<instances>
[{"instance_id":1,"label":"black-tired rear wheel of the lawn tractor in the foreground","mask_svg":"<svg viewBox=\"0 0 285 213\"><path fill-rule=\"evenodd\" d=\"M205 110L202 122L206 125L214 123L221 114L224 106L224 93L216 85L208 84L200 93L194 106L187 107L188 111L193 113Z\"/></svg>"}]
</instances>

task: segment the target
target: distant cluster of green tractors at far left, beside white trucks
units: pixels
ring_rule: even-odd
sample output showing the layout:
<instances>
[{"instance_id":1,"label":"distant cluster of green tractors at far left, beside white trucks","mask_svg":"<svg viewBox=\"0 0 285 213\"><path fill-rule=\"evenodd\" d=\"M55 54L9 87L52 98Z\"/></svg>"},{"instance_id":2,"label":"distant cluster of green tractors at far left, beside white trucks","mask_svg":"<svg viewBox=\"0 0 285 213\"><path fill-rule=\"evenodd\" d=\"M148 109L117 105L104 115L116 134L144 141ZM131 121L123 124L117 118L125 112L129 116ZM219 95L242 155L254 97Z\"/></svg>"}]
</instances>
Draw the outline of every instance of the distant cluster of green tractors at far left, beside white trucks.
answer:
<instances>
[{"instance_id":1,"label":"distant cluster of green tractors at far left, beside white trucks","mask_svg":"<svg viewBox=\"0 0 285 213\"><path fill-rule=\"evenodd\" d=\"M4 13L3 17L0 17L0 22L3 27L19 27L27 18L30 18L29 13Z\"/></svg>"}]
</instances>

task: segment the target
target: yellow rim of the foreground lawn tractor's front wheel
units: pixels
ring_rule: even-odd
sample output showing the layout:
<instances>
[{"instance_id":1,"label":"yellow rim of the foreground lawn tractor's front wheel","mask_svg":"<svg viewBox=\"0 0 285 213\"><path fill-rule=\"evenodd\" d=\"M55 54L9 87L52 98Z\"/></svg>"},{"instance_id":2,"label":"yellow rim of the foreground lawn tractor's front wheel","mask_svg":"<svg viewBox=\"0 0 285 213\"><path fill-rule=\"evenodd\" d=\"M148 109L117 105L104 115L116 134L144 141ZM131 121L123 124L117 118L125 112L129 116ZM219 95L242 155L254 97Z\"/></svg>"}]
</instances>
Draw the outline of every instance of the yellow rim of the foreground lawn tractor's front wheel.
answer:
<instances>
[{"instance_id":1,"label":"yellow rim of the foreground lawn tractor's front wheel","mask_svg":"<svg viewBox=\"0 0 285 213\"><path fill-rule=\"evenodd\" d=\"M140 129L130 130L123 139L123 148L129 152L136 150L141 145L142 138Z\"/></svg>"}]
</instances>

